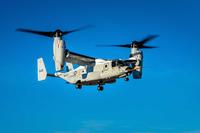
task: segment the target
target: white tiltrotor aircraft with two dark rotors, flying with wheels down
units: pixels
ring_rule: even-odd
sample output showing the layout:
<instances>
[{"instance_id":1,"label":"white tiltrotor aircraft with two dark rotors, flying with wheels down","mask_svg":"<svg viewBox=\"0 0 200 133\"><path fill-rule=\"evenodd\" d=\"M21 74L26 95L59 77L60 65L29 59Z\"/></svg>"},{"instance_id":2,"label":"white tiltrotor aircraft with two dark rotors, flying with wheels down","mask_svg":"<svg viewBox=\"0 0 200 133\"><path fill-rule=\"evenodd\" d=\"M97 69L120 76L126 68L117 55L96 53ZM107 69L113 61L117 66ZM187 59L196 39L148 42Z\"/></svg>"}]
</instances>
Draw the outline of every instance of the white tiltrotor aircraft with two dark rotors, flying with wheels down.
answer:
<instances>
[{"instance_id":1,"label":"white tiltrotor aircraft with two dark rotors, flying with wheels down","mask_svg":"<svg viewBox=\"0 0 200 133\"><path fill-rule=\"evenodd\" d=\"M45 80L47 76L58 77L64 79L67 83L74 84L77 89L81 89L83 85L97 85L97 89L102 91L104 84L114 83L117 78L124 78L125 81L129 80L130 75L133 76L133 79L142 78L143 52L141 49L156 48L144 44L156 38L157 35L150 35L141 41L132 41L130 44L101 45L130 48L131 50L127 60L107 60L81 55L66 48L66 43L62 37L85 28L88 27L85 26L69 31L57 29L53 32L17 29L20 32L28 32L54 39L53 59L55 62L55 73L47 73L43 59L39 58L37 60L39 81ZM76 69L73 68L74 64L78 64Z\"/></svg>"}]
</instances>

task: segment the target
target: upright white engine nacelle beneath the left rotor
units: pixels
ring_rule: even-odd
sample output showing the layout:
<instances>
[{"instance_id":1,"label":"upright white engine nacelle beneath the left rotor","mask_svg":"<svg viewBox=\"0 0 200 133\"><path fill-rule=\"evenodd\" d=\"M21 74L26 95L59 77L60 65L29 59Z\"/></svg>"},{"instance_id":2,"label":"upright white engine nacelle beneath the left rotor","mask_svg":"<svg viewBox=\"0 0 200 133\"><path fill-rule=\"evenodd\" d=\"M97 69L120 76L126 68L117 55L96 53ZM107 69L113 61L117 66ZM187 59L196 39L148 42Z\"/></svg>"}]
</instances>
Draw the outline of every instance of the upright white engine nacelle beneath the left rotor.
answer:
<instances>
[{"instance_id":1,"label":"upright white engine nacelle beneath the left rotor","mask_svg":"<svg viewBox=\"0 0 200 133\"><path fill-rule=\"evenodd\" d=\"M59 37L55 37L53 45L53 58L56 71L61 71L64 68L65 42Z\"/></svg>"}]
</instances>

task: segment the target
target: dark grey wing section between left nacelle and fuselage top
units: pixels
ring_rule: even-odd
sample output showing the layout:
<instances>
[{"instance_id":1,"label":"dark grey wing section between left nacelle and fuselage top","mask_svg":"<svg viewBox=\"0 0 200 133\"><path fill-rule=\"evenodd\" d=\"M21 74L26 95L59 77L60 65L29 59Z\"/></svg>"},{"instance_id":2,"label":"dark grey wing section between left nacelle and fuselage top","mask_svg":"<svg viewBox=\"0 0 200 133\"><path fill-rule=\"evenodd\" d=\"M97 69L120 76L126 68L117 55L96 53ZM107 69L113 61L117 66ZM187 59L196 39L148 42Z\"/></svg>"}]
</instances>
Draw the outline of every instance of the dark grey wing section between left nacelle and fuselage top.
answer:
<instances>
[{"instance_id":1,"label":"dark grey wing section between left nacelle and fuselage top","mask_svg":"<svg viewBox=\"0 0 200 133\"><path fill-rule=\"evenodd\" d=\"M95 64L95 58L66 50L65 61L81 66Z\"/></svg>"}]
</instances>

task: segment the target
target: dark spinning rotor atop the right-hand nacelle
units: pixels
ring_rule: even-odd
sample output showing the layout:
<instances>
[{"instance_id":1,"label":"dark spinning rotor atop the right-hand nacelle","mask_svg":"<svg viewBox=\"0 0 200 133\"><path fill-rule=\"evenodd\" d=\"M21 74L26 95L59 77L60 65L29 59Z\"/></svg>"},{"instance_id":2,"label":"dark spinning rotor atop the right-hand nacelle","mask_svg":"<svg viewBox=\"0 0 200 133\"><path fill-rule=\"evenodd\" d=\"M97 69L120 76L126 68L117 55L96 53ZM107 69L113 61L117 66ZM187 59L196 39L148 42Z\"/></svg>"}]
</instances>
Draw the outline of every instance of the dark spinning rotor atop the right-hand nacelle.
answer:
<instances>
[{"instance_id":1,"label":"dark spinning rotor atop the right-hand nacelle","mask_svg":"<svg viewBox=\"0 0 200 133\"><path fill-rule=\"evenodd\" d=\"M150 35L144 38L142 41L132 41L130 44L119 44L119 45L97 45L100 47L122 47L122 48L157 48L155 46L146 46L145 43L153 40L154 38L158 37L158 35Z\"/></svg>"}]
</instances>

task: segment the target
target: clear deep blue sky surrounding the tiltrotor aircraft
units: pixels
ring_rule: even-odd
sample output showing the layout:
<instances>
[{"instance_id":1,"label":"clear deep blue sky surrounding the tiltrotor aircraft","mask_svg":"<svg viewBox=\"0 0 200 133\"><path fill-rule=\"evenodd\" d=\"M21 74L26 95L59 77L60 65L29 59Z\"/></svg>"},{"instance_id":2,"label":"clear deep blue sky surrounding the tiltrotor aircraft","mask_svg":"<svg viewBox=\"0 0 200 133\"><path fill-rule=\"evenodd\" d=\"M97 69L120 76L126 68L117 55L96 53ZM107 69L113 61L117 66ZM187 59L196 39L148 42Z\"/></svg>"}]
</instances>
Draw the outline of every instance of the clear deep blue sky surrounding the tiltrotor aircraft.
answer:
<instances>
[{"instance_id":1,"label":"clear deep blue sky surrounding the tiltrotor aircraft","mask_svg":"<svg viewBox=\"0 0 200 133\"><path fill-rule=\"evenodd\" d=\"M197 0L7 0L0 3L0 133L199 133L200 2ZM52 39L15 32L93 24L64 39L72 51L129 56L148 34L142 80L76 90L61 79L37 81L36 60L54 72Z\"/></svg>"}]
</instances>

